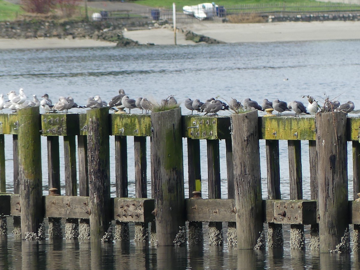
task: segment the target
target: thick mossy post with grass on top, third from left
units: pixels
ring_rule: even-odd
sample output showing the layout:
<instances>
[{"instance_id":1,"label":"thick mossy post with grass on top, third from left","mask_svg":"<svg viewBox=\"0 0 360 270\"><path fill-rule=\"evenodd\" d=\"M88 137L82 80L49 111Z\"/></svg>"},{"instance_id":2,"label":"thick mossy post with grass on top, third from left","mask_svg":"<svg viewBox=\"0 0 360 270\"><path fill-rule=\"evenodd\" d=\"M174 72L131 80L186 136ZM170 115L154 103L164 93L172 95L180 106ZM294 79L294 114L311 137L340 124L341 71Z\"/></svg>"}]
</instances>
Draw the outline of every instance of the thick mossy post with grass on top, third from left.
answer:
<instances>
[{"instance_id":1,"label":"thick mossy post with grass on top, third from left","mask_svg":"<svg viewBox=\"0 0 360 270\"><path fill-rule=\"evenodd\" d=\"M181 108L151 114L151 154L154 177L156 234L159 246L185 243L177 241L185 226L183 140ZM185 240L185 239L184 239Z\"/></svg>"}]
</instances>

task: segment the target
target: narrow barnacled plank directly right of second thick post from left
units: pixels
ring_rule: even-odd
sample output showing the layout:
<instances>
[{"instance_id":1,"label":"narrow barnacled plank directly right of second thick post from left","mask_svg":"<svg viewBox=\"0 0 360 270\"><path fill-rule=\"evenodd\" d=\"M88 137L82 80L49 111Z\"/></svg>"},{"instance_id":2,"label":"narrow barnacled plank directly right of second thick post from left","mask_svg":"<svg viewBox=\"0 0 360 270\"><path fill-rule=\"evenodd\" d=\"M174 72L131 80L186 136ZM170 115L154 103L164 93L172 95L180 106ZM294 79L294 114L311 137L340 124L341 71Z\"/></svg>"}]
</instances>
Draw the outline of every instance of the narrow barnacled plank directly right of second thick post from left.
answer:
<instances>
[{"instance_id":1,"label":"narrow barnacled plank directly right of second thick post from left","mask_svg":"<svg viewBox=\"0 0 360 270\"><path fill-rule=\"evenodd\" d=\"M127 138L115 136L115 184L116 197L128 197L127 188ZM114 240L129 241L129 222L116 221Z\"/></svg>"}]
</instances>

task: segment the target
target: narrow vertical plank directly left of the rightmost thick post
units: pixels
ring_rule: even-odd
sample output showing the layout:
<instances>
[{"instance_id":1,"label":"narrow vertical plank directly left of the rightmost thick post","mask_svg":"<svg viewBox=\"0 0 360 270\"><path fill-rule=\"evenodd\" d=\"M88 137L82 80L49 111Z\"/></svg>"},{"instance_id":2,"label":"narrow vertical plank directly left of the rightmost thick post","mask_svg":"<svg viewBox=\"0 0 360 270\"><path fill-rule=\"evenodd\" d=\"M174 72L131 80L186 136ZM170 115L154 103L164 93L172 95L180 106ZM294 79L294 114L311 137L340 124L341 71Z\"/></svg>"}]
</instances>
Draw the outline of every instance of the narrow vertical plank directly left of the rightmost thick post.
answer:
<instances>
[{"instance_id":1,"label":"narrow vertical plank directly left of the rightmost thick post","mask_svg":"<svg viewBox=\"0 0 360 270\"><path fill-rule=\"evenodd\" d=\"M316 141L309 141L309 162L310 162L310 196L312 200L318 200L318 169L317 169L317 153ZM316 204L316 209L319 211L319 203ZM311 224L310 228L310 249L319 250L319 224Z\"/></svg>"}]
</instances>

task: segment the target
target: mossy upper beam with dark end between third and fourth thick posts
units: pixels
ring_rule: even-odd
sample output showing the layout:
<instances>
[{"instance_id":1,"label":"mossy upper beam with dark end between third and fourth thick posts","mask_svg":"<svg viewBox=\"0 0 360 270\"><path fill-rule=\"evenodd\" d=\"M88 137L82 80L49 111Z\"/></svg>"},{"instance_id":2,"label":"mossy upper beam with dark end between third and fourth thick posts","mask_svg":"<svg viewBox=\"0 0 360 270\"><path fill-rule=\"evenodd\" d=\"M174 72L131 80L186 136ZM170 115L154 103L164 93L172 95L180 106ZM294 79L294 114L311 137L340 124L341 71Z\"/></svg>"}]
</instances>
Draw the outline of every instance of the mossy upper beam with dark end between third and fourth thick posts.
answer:
<instances>
[{"instance_id":1,"label":"mossy upper beam with dark end between third and fourth thick posts","mask_svg":"<svg viewBox=\"0 0 360 270\"><path fill-rule=\"evenodd\" d=\"M192 139L230 139L230 117L183 115L183 137Z\"/></svg>"}]
</instances>

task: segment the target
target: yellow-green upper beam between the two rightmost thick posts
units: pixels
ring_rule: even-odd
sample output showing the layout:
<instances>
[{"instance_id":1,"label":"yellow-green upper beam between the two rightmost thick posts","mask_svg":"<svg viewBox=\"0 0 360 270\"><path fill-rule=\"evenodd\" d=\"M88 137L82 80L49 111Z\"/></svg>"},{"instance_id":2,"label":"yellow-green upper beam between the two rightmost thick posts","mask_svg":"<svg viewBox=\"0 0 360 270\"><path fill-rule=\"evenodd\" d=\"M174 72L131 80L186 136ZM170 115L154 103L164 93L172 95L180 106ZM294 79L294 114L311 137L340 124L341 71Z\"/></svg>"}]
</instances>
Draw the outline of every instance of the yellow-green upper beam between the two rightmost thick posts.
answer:
<instances>
[{"instance_id":1,"label":"yellow-green upper beam between the two rightmost thick posts","mask_svg":"<svg viewBox=\"0 0 360 270\"><path fill-rule=\"evenodd\" d=\"M260 139L315 140L314 117L259 117Z\"/></svg>"}]
</instances>

